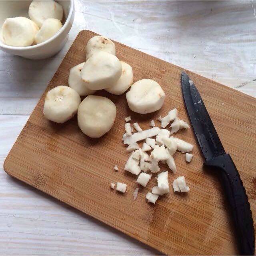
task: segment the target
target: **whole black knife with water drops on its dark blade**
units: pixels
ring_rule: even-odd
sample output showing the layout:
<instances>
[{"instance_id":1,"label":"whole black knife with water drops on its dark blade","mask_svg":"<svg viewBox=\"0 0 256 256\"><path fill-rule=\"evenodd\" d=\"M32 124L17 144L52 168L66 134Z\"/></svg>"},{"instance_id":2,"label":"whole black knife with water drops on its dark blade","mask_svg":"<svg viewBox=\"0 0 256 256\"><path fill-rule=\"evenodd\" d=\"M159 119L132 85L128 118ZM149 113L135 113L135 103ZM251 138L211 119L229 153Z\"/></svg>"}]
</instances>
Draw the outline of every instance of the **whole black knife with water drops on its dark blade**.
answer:
<instances>
[{"instance_id":1,"label":"whole black knife with water drops on its dark blade","mask_svg":"<svg viewBox=\"0 0 256 256\"><path fill-rule=\"evenodd\" d=\"M181 74L181 84L190 122L206 160L204 166L216 170L214 173L226 194L238 250L241 255L254 255L252 211L238 170L230 155L226 154L196 86L185 72Z\"/></svg>"}]
</instances>

